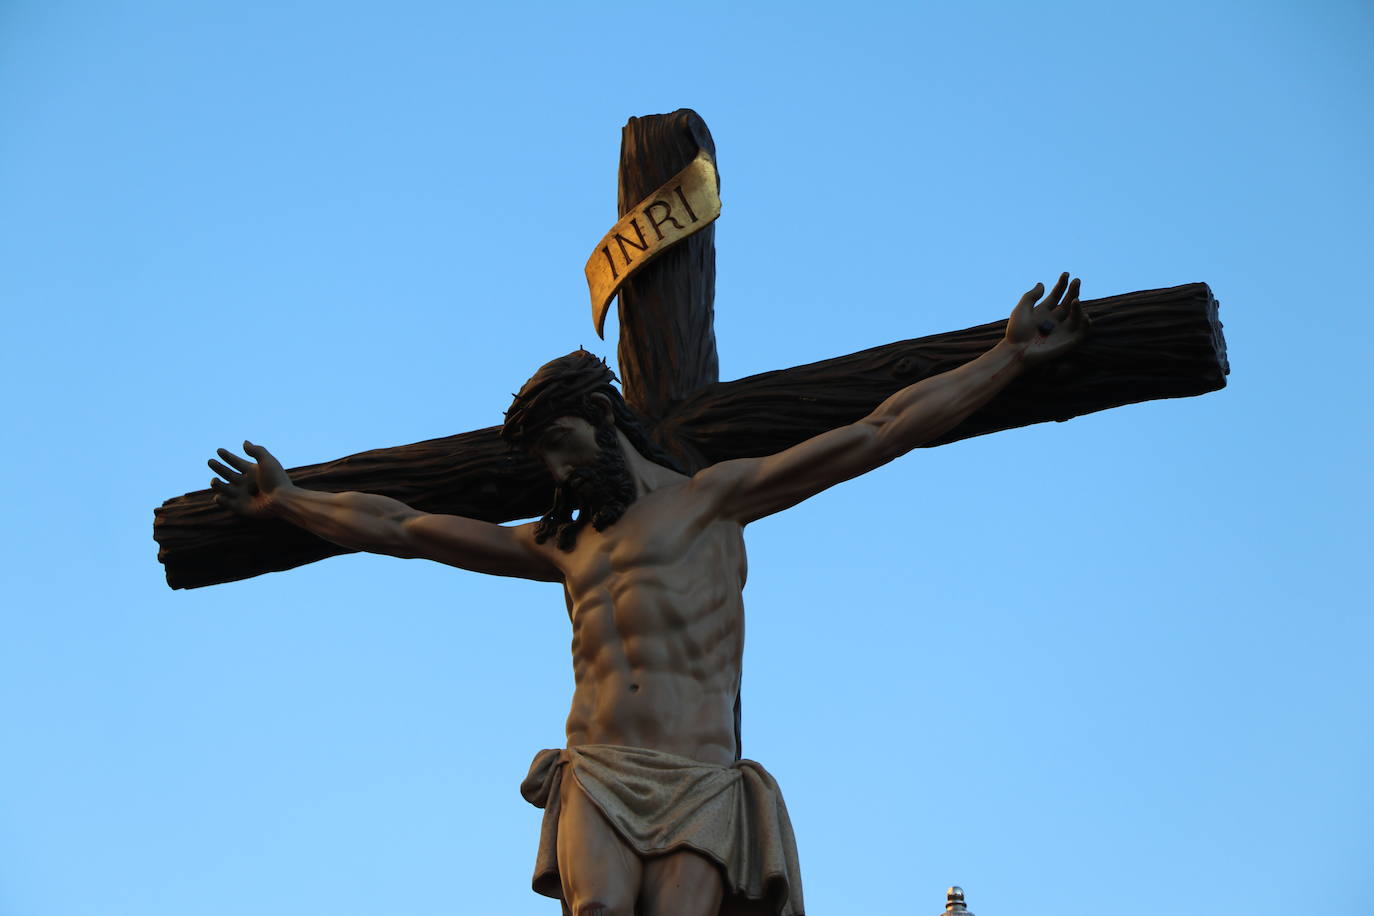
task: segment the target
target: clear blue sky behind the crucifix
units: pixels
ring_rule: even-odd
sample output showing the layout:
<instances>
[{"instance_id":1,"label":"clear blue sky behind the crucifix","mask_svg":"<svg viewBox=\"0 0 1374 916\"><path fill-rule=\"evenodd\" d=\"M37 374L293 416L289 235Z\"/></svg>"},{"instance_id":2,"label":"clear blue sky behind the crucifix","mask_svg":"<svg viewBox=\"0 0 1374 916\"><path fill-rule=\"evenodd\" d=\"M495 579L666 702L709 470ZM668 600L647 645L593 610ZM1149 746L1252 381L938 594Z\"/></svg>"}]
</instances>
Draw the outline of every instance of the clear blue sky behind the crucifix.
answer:
<instances>
[{"instance_id":1,"label":"clear blue sky behind the crucifix","mask_svg":"<svg viewBox=\"0 0 1374 916\"><path fill-rule=\"evenodd\" d=\"M556 586L172 592L153 508L595 345L620 126L719 147L723 378L1206 282L1230 386L752 526L809 911L1374 912L1369 3L0 3L0 913L556 912ZM614 313L610 324L614 325Z\"/></svg>"}]
</instances>

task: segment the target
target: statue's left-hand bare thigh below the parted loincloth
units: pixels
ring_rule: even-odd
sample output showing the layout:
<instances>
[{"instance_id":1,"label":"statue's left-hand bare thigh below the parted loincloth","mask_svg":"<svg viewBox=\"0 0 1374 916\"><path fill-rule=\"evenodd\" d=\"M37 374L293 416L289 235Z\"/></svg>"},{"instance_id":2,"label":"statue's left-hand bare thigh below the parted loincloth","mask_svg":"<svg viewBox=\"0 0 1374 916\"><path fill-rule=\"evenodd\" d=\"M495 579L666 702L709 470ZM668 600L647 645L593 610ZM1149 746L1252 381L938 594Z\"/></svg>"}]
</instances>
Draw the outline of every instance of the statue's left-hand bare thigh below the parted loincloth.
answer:
<instances>
[{"instance_id":1,"label":"statue's left-hand bare thigh below the parted loincloth","mask_svg":"<svg viewBox=\"0 0 1374 916\"><path fill-rule=\"evenodd\" d=\"M639 856L606 823L567 768L559 795L558 873L567 908L574 916L633 916L643 872Z\"/></svg>"}]
</instances>

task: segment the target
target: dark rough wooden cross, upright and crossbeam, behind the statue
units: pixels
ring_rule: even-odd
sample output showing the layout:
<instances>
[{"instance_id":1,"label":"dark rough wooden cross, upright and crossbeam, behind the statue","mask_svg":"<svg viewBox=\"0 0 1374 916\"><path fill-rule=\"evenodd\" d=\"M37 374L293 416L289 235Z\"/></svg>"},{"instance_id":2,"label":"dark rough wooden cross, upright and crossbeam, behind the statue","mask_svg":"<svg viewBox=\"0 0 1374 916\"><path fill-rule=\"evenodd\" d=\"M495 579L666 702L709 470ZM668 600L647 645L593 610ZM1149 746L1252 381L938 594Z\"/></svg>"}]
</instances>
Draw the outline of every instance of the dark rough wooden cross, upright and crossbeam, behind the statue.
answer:
<instances>
[{"instance_id":1,"label":"dark rough wooden cross, upright and crossbeam, behind the statue","mask_svg":"<svg viewBox=\"0 0 1374 916\"><path fill-rule=\"evenodd\" d=\"M716 158L695 111L631 118L621 133L620 214L702 150ZM688 471L771 455L852 423L899 389L976 358L1006 325L995 321L720 382L714 288L714 225L668 249L620 288L617 356L625 400ZM929 445L1226 386L1226 341L1205 283L1083 305L1092 334L1081 346L1026 372ZM550 505L552 481L543 466L511 452L499 431L493 426L374 449L290 474L309 489L381 493L426 512L488 522L539 516ZM154 515L158 559L172 588L232 582L348 552L287 522L221 509L210 490L170 499Z\"/></svg>"}]
</instances>

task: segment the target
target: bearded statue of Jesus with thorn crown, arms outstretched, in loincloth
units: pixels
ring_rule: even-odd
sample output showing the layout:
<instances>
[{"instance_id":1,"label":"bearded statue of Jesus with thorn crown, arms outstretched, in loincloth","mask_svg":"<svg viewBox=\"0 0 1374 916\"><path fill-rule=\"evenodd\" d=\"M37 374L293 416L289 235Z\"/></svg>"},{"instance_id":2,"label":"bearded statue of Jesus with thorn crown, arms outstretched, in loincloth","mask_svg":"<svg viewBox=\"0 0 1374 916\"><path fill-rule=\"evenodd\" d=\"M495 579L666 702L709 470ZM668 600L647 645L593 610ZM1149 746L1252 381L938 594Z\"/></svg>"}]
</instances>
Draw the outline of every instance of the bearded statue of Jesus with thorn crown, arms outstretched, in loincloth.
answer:
<instances>
[{"instance_id":1,"label":"bearded statue of Jesus with thorn crown, arms outstretched, in loincloth","mask_svg":"<svg viewBox=\"0 0 1374 916\"><path fill-rule=\"evenodd\" d=\"M1043 299L1041 299L1043 297ZM559 582L573 625L566 746L521 792L544 809L534 890L576 916L802 916L782 794L741 759L743 529L937 438L1024 369L1087 334L1079 280L1021 297L978 358L789 449L688 477L577 350L525 383L502 430L556 483L537 522L433 515L365 493L293 485L261 445L220 449L216 501L346 548Z\"/></svg>"}]
</instances>

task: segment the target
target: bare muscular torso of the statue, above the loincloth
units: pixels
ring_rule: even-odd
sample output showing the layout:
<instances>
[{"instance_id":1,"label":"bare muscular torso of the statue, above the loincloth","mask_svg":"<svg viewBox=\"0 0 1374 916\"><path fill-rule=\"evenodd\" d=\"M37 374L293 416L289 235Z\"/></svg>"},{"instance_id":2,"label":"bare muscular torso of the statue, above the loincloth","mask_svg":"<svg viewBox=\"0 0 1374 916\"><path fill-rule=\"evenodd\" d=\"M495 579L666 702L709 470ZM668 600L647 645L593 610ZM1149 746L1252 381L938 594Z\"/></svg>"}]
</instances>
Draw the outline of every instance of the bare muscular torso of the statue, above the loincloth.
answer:
<instances>
[{"instance_id":1,"label":"bare muscular torso of the statue, above the loincloth","mask_svg":"<svg viewBox=\"0 0 1374 916\"><path fill-rule=\"evenodd\" d=\"M558 553L573 623L567 744L728 765L745 644L743 530L687 481L646 493Z\"/></svg>"}]
</instances>

